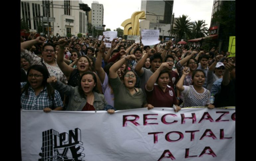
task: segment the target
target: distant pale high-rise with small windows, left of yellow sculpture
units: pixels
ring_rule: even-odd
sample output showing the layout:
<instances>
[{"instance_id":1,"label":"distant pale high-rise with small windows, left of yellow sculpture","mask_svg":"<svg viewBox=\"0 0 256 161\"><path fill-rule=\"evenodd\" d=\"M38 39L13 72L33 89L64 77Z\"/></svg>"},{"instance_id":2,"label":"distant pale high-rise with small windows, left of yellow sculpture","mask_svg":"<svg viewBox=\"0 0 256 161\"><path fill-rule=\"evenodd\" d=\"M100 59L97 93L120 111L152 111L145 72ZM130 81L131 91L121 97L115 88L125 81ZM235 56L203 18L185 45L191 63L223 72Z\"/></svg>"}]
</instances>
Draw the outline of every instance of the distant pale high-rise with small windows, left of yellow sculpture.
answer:
<instances>
[{"instance_id":1,"label":"distant pale high-rise with small windows, left of yellow sculpture","mask_svg":"<svg viewBox=\"0 0 256 161\"><path fill-rule=\"evenodd\" d=\"M102 27L104 18L103 4L93 1L91 4L91 24L96 30L104 30Z\"/></svg>"}]
</instances>

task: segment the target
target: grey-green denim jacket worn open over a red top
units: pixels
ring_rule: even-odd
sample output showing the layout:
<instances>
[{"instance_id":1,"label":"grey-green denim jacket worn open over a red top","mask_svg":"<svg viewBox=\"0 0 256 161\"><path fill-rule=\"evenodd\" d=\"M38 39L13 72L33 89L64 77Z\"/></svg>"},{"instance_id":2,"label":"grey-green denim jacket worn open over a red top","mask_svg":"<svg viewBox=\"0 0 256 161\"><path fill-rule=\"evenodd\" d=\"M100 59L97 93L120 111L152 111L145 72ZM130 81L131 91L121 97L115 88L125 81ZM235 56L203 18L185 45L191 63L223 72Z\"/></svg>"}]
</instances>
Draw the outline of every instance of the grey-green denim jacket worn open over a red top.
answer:
<instances>
[{"instance_id":1,"label":"grey-green denim jacket worn open over a red top","mask_svg":"<svg viewBox=\"0 0 256 161\"><path fill-rule=\"evenodd\" d=\"M69 96L69 102L66 108L66 111L82 111L85 106L87 100L86 98L82 98L78 92L78 86L72 87L63 84L61 81L57 81L56 83L51 83L51 85L58 90L60 93L64 93ZM104 95L99 94L97 92L93 92L94 94L94 102L93 107L96 111L103 110L107 103L104 99Z\"/></svg>"}]
</instances>

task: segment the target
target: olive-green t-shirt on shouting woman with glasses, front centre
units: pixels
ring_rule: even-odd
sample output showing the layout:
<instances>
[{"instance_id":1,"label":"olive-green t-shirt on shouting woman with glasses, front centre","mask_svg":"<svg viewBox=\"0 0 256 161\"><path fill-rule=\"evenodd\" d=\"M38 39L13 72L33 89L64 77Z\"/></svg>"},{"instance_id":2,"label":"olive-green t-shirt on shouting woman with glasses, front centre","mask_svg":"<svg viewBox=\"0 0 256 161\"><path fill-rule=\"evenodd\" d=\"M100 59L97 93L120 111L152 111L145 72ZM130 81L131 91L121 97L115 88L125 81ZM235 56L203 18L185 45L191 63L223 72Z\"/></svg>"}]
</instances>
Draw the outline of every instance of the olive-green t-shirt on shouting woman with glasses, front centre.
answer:
<instances>
[{"instance_id":1,"label":"olive-green t-shirt on shouting woman with glasses, front centre","mask_svg":"<svg viewBox=\"0 0 256 161\"><path fill-rule=\"evenodd\" d=\"M147 104L146 97L143 95L141 88L139 88L138 92L131 95L119 77L109 78L109 83L114 91L114 107L117 110L137 109Z\"/></svg>"}]
</instances>

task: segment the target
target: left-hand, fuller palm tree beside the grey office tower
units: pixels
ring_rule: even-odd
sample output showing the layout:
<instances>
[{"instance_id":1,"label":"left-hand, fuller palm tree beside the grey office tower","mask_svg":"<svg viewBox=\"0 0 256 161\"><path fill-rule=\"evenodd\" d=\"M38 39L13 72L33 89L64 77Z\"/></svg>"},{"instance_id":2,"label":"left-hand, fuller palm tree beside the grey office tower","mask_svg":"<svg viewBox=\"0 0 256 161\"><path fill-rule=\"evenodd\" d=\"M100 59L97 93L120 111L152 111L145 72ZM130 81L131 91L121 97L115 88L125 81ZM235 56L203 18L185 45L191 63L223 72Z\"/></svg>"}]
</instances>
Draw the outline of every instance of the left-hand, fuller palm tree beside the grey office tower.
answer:
<instances>
[{"instance_id":1,"label":"left-hand, fuller palm tree beside the grey office tower","mask_svg":"<svg viewBox=\"0 0 256 161\"><path fill-rule=\"evenodd\" d=\"M178 41L182 38L186 39L187 37L191 37L192 33L192 24L189 22L187 15L180 16L179 19L176 20L173 27L173 32L178 36Z\"/></svg>"}]
</instances>

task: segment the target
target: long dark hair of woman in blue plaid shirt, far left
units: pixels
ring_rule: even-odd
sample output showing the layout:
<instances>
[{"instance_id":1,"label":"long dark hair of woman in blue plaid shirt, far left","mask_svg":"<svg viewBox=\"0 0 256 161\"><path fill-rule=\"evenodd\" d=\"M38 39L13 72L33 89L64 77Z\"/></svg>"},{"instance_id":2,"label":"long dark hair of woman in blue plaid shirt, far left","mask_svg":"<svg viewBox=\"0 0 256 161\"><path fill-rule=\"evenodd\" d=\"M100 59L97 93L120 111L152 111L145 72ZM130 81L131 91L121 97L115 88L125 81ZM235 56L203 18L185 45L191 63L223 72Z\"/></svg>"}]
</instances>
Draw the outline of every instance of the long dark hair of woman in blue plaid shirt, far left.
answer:
<instances>
[{"instance_id":1,"label":"long dark hair of woman in blue plaid shirt, far left","mask_svg":"<svg viewBox=\"0 0 256 161\"><path fill-rule=\"evenodd\" d=\"M48 79L48 70L45 66L43 65L31 65L29 68L28 68L28 72L27 72L27 84L24 86L24 90L22 90L22 93L25 92L25 96L27 97L28 96L28 89L30 87L30 83L28 81L28 76L29 76L29 72L31 69L34 69L34 70L37 70L39 72L41 72L43 74L43 82L42 82L42 86L43 87L46 87L46 90L47 90L47 93L48 93L48 97L49 99L51 100L53 97L54 97L54 88L49 84L47 83L47 79Z\"/></svg>"}]
</instances>

